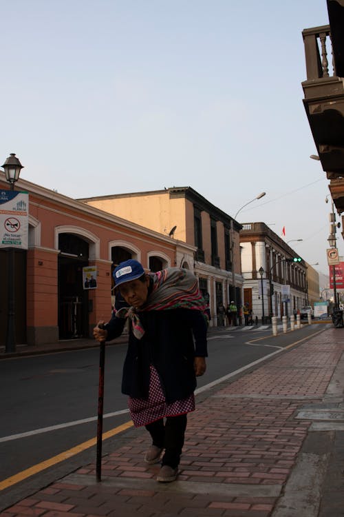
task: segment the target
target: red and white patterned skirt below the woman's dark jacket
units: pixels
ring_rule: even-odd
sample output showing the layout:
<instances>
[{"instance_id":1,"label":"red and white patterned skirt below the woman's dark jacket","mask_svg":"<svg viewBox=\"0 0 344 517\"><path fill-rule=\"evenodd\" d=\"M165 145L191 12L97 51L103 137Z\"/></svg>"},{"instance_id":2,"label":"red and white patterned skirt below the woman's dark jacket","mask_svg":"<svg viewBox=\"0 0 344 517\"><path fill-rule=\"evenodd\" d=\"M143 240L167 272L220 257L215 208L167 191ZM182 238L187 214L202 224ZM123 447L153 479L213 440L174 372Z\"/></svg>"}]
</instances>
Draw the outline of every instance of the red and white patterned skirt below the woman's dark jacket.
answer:
<instances>
[{"instance_id":1,"label":"red and white patterned skirt below the woman's dark jacket","mask_svg":"<svg viewBox=\"0 0 344 517\"><path fill-rule=\"evenodd\" d=\"M158 372L152 365L148 400L129 397L128 403L135 427L150 424L165 416L178 416L195 411L195 396L193 394L183 398L182 401L166 403Z\"/></svg>"}]
</instances>

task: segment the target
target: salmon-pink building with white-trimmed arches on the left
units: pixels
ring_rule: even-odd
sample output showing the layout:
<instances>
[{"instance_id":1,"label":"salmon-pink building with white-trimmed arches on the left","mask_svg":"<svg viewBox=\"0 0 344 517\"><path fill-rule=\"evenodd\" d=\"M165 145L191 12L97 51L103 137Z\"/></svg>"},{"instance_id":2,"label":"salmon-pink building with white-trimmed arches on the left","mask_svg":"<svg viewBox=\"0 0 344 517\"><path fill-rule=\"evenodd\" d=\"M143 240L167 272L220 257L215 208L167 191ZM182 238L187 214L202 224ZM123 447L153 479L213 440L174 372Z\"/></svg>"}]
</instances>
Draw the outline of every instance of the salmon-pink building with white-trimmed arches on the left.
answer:
<instances>
[{"instance_id":1,"label":"salmon-pink building with white-trimmed arches on the left","mask_svg":"<svg viewBox=\"0 0 344 517\"><path fill-rule=\"evenodd\" d=\"M9 188L0 172L0 190ZM14 250L17 344L92 336L97 321L111 316L111 270L123 260L137 259L152 271L193 269L194 246L23 179L15 190L29 194L28 250ZM8 321L8 256L0 247L0 346ZM85 288L91 273L93 285Z\"/></svg>"}]
</instances>

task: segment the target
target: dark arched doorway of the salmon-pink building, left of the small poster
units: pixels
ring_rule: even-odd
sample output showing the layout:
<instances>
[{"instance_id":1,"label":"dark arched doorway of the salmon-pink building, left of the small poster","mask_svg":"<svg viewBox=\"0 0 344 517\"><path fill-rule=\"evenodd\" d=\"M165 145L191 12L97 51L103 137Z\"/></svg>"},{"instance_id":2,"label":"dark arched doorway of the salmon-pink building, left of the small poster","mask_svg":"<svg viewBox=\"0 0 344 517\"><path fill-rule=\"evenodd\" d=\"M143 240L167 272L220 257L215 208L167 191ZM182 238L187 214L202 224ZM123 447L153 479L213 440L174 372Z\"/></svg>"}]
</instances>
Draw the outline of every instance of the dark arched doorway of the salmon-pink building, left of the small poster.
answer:
<instances>
[{"instance_id":1,"label":"dark arched doorway of the salmon-pink building, left of the small poster","mask_svg":"<svg viewBox=\"0 0 344 517\"><path fill-rule=\"evenodd\" d=\"M58 337L89 337L88 291L83 289L89 245L74 234L60 234L58 249Z\"/></svg>"}]
</instances>

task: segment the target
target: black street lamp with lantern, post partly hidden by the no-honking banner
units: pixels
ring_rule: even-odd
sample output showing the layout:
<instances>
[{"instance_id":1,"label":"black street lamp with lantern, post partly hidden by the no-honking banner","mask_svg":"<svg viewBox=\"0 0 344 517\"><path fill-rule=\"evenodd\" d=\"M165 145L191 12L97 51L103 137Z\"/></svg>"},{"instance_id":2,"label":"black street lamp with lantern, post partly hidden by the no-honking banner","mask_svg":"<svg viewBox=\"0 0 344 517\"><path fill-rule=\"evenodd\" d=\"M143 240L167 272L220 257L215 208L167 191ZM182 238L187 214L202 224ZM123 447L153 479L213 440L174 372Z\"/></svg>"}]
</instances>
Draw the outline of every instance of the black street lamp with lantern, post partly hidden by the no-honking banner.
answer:
<instances>
[{"instance_id":1,"label":"black street lamp with lantern, post partly hidden by the no-honking banner","mask_svg":"<svg viewBox=\"0 0 344 517\"><path fill-rule=\"evenodd\" d=\"M23 165L14 153L8 156L2 165L5 170L6 181L10 183L10 190L14 190L14 184L19 180L19 174ZM8 323L6 334L5 352L16 351L15 339L15 300L14 300L14 247L8 248Z\"/></svg>"}]
</instances>

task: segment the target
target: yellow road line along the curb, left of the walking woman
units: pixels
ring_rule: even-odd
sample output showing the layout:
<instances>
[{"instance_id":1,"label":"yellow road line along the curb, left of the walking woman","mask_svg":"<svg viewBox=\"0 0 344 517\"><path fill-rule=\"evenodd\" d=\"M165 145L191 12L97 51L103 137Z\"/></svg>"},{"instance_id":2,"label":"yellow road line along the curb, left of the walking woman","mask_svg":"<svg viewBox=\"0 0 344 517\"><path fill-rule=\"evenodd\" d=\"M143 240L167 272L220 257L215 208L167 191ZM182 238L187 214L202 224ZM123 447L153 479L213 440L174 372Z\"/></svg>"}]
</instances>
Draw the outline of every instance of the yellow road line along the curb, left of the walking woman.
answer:
<instances>
[{"instance_id":1,"label":"yellow road line along the curb, left of the walking woman","mask_svg":"<svg viewBox=\"0 0 344 517\"><path fill-rule=\"evenodd\" d=\"M114 429L110 429L106 433L103 433L103 441L106 440L107 438L111 438L111 436L114 436L115 434L125 431L125 429L129 429L129 427L132 427L132 426L133 426L133 423L130 421L130 422L126 422L122 425L118 425L118 427L114 427ZM41 463L37 463L36 465L33 465L29 469L25 469L22 472L19 472L18 474L14 474L14 476L10 476L10 478L6 478L0 482L0 491L6 489L8 487L11 487L12 485L16 485L20 481L23 481L26 478L30 478L30 476L34 476L34 474L38 474L42 470L48 469L49 467L56 465L56 463L61 463L61 461L67 460L68 458L75 456L79 452L83 452L86 449L89 449L89 447L96 445L96 443L97 443L97 438L96 437L91 438L90 440L87 440L86 442L79 443L79 445L72 447L72 449L68 449L65 452L61 452L61 454L57 454L56 456L53 456L52 458L49 458L48 460L41 461Z\"/></svg>"}]
</instances>

